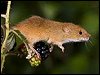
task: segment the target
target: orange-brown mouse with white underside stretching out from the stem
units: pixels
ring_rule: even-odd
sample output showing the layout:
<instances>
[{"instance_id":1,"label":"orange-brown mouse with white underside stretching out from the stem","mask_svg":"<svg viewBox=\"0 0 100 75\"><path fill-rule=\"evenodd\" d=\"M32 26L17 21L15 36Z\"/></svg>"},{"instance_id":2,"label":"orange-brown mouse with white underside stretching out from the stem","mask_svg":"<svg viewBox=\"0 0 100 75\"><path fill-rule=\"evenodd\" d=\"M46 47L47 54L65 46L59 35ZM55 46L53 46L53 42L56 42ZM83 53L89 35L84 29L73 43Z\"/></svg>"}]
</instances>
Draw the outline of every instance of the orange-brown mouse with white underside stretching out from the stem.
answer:
<instances>
[{"instance_id":1,"label":"orange-brown mouse with white underside stretching out from the stem","mask_svg":"<svg viewBox=\"0 0 100 75\"><path fill-rule=\"evenodd\" d=\"M39 53L34 49L34 44L41 40L47 41L47 43L52 45L57 45L64 52L62 44L88 41L91 36L79 25L69 22L58 22L35 15L19 22L12 29L20 31L28 41L31 50L28 51L27 59L32 57L32 52L35 52L40 57ZM53 46L50 52L52 50Z\"/></svg>"}]
</instances>

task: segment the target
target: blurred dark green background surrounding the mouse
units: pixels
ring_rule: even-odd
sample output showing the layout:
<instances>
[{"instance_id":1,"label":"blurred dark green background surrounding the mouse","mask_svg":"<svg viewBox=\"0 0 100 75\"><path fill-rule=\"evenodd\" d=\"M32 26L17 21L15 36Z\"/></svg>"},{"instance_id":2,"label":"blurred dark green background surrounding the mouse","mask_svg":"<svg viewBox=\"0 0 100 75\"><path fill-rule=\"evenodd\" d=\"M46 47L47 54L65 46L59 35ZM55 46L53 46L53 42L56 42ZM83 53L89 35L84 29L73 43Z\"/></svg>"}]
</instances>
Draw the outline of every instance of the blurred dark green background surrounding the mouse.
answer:
<instances>
[{"instance_id":1,"label":"blurred dark green background surrounding the mouse","mask_svg":"<svg viewBox=\"0 0 100 75\"><path fill-rule=\"evenodd\" d=\"M72 22L92 36L85 43L64 44L65 53L55 46L50 56L38 67L25 58L8 56L6 74L98 74L99 73L99 1L12 1L12 25L38 15L60 22Z\"/></svg>"}]
</instances>

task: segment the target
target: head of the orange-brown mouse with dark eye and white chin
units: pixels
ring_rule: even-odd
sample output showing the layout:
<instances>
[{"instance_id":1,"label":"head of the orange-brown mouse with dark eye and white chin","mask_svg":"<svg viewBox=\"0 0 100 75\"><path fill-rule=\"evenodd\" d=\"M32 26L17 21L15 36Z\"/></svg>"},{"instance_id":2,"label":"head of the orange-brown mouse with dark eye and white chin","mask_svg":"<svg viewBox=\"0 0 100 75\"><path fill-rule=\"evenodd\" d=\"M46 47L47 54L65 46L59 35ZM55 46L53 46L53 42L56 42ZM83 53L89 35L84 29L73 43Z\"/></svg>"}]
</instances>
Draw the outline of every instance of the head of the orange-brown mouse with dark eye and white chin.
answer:
<instances>
[{"instance_id":1,"label":"head of the orange-brown mouse with dark eye and white chin","mask_svg":"<svg viewBox=\"0 0 100 75\"><path fill-rule=\"evenodd\" d=\"M65 38L66 42L80 42L80 41L88 41L90 34L78 25L74 25L72 23L64 23Z\"/></svg>"}]
</instances>

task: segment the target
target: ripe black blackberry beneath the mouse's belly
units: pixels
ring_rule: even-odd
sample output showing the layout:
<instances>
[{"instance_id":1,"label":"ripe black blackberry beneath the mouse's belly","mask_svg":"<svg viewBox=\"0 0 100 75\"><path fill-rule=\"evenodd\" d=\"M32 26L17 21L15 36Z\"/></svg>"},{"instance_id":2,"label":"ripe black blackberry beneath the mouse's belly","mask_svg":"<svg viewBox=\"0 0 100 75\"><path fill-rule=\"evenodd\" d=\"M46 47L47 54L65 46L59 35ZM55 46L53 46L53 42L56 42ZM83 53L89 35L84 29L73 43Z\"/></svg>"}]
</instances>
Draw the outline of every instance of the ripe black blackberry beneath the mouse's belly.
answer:
<instances>
[{"instance_id":1,"label":"ripe black blackberry beneath the mouse's belly","mask_svg":"<svg viewBox=\"0 0 100 75\"><path fill-rule=\"evenodd\" d=\"M50 44L45 41L36 42L34 48L40 54L42 60L45 60L50 54Z\"/></svg>"}]
</instances>

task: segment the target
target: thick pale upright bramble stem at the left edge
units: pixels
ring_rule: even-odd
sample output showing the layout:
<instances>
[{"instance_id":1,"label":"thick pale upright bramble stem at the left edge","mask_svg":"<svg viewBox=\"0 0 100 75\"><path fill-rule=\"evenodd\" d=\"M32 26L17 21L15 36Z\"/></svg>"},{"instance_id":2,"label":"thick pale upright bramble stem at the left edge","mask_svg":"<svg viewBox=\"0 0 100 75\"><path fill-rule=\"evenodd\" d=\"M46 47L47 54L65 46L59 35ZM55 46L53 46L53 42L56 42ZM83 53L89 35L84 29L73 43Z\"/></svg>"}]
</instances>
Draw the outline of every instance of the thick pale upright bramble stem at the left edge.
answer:
<instances>
[{"instance_id":1,"label":"thick pale upright bramble stem at the left edge","mask_svg":"<svg viewBox=\"0 0 100 75\"><path fill-rule=\"evenodd\" d=\"M6 15L3 15L3 14L1 15L1 17L5 18L5 25L6 25L6 36L5 36L4 42L1 47L1 72L4 67L4 62L5 62L5 57L6 57L6 53L5 53L6 52L6 41L7 41L9 32L10 32L10 29L9 29L10 5L11 5L11 1L8 1Z\"/></svg>"}]
</instances>

